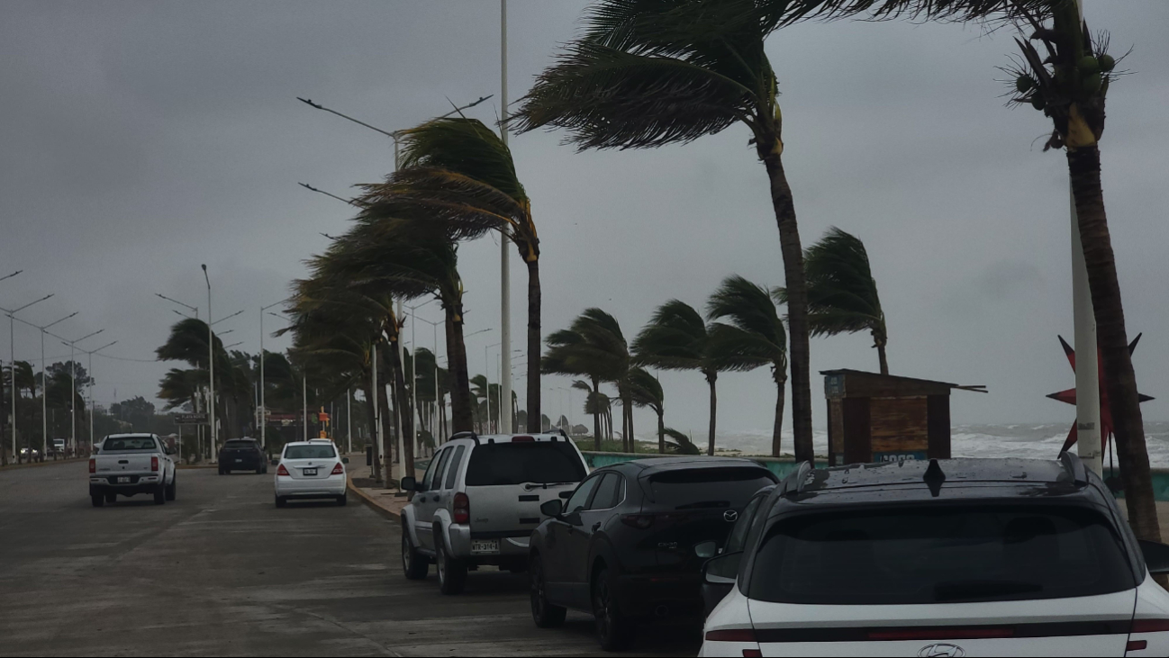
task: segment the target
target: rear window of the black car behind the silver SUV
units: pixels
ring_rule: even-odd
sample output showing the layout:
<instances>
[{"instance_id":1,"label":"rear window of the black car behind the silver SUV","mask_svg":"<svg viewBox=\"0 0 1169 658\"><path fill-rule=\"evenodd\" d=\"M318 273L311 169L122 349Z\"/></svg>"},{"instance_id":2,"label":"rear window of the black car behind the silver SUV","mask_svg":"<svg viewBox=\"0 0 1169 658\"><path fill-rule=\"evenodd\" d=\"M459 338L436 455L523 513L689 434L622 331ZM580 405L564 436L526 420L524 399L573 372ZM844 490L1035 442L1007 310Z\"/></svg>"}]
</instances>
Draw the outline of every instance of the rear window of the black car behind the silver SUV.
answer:
<instances>
[{"instance_id":1,"label":"rear window of the black car behind the silver SUV","mask_svg":"<svg viewBox=\"0 0 1169 658\"><path fill-rule=\"evenodd\" d=\"M665 471L650 478L653 503L673 510L739 508L772 484L770 471L753 466Z\"/></svg>"}]
</instances>

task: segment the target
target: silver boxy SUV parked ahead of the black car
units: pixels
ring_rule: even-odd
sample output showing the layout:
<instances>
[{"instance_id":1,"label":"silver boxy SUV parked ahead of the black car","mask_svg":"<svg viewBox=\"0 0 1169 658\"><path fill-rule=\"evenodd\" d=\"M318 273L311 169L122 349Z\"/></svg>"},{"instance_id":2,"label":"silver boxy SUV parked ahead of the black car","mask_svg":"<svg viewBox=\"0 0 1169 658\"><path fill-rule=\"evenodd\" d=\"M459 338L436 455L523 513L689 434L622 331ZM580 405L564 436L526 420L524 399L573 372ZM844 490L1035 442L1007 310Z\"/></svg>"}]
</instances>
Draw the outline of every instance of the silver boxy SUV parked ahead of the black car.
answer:
<instances>
[{"instance_id":1,"label":"silver boxy SUV parked ahead of the black car","mask_svg":"<svg viewBox=\"0 0 1169 658\"><path fill-rule=\"evenodd\" d=\"M442 593L458 594L480 565L526 570L540 505L567 498L586 475L584 457L560 435L456 434L421 480L402 478L414 491L402 510L406 577L427 577L434 562Z\"/></svg>"}]
</instances>

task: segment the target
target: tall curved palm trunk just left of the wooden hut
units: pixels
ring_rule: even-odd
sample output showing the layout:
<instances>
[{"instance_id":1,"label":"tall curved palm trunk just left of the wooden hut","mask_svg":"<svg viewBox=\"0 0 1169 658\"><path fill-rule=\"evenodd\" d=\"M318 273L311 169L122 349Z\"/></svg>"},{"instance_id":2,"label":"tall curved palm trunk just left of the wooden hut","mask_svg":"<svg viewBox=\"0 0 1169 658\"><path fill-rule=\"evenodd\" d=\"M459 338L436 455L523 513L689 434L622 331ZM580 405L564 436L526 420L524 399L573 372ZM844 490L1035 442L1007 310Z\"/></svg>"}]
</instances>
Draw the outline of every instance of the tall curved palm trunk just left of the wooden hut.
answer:
<instances>
[{"instance_id":1,"label":"tall curved palm trunk just left of the wooden hut","mask_svg":"<svg viewBox=\"0 0 1169 658\"><path fill-rule=\"evenodd\" d=\"M762 119L762 122L770 120L773 119ZM811 348L808 344L808 285L804 280L803 248L800 244L796 208L791 200L791 187L783 172L779 138L777 130L774 134L760 134L756 148L772 181L772 207L775 212L775 223L779 224L780 229L783 279L788 291L788 337L791 341L788 349L788 361L791 367L791 429L796 460L811 462L815 459L815 453L811 446Z\"/></svg>"}]
</instances>

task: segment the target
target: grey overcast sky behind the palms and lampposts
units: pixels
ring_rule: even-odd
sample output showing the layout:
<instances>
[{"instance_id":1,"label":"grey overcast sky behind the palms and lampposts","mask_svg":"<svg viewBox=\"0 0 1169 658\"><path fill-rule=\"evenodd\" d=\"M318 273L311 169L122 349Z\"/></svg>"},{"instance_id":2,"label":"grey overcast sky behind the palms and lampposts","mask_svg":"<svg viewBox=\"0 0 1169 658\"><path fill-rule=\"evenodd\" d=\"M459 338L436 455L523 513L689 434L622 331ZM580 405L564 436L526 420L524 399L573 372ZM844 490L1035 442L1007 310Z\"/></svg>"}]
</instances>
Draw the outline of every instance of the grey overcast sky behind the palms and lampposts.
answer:
<instances>
[{"instance_id":1,"label":"grey overcast sky behind the palms and lampposts","mask_svg":"<svg viewBox=\"0 0 1169 658\"><path fill-rule=\"evenodd\" d=\"M583 1L512 0L511 99L577 30ZM1146 418L1169 418L1169 2L1087 0L1093 29L1136 75L1114 84L1101 143L1105 199ZM784 116L784 162L804 244L830 226L862 237L888 323L894 374L989 387L956 392L956 423L1066 421L1045 394L1073 386L1057 334L1071 340L1068 198L1063 153L1042 153L1050 122L1001 97L1009 32L908 23L801 25L768 41ZM386 130L494 93L499 6L396 2L14 1L0 4L0 306L49 292L22 317L74 338L105 332L108 353L148 360L178 318L161 292L215 318L226 344L258 351L261 305L288 295L303 262L346 229L337 194L393 167L390 141L296 101L312 98ZM701 306L741 273L782 284L763 167L734 126L685 146L576 153L563 134L512 139L540 230L545 334L581 310L613 313L631 339L656 305ZM499 247L459 251L471 373L499 341ZM512 257L513 348L524 346L526 273ZM441 319L436 304L420 311ZM268 317L265 331L279 320ZM7 342L4 323L0 337ZM429 346L433 332L420 325ZM441 337L440 337L441 338ZM102 340L105 339L105 340ZM814 339L814 422L828 368L876 369L867 334ZM286 347L265 339L268 348ZM18 359L39 358L16 326ZM53 341L48 354L68 359ZM440 345L440 354L444 347ZM498 354L498 347L492 348ZM7 346L2 358L8 360ZM490 376L496 380L494 355ZM520 355L517 362L526 359ZM98 403L153 399L170 367L96 356ZM523 366L517 388L523 401ZM666 423L705 436L698 373L663 373ZM545 379L545 411L568 402ZM719 379L719 425L767 431L769 373ZM575 394L575 422L586 422ZM638 432L652 431L638 414ZM592 427L592 423L587 423ZM786 446L790 422L784 428Z\"/></svg>"}]
</instances>

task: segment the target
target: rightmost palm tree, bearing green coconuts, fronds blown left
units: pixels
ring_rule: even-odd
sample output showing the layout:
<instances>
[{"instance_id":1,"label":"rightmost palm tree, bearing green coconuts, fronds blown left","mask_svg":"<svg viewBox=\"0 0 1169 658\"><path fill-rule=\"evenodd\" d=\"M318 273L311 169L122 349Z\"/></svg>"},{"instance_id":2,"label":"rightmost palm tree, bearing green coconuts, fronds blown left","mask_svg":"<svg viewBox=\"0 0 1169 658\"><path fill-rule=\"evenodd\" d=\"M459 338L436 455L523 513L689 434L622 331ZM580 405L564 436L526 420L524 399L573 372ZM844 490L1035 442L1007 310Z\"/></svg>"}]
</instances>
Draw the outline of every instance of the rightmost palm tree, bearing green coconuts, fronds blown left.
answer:
<instances>
[{"instance_id":1,"label":"rightmost palm tree, bearing green coconuts, fronds blown left","mask_svg":"<svg viewBox=\"0 0 1169 658\"><path fill-rule=\"evenodd\" d=\"M1105 101L1120 75L1118 60L1108 54L1107 35L1092 37L1075 0L797 0L790 9L788 20L872 12L879 18L908 14L916 19L1008 20L1016 21L1021 33L1024 26L1030 32L1015 40L1022 58L1008 69L1016 77L1011 99L1017 105L1031 105L1051 120L1052 132L1044 151L1064 148L1067 157L1097 340L1112 401L1125 503L1137 536L1161 541L1144 420L1100 182Z\"/></svg>"}]
</instances>

